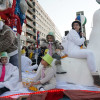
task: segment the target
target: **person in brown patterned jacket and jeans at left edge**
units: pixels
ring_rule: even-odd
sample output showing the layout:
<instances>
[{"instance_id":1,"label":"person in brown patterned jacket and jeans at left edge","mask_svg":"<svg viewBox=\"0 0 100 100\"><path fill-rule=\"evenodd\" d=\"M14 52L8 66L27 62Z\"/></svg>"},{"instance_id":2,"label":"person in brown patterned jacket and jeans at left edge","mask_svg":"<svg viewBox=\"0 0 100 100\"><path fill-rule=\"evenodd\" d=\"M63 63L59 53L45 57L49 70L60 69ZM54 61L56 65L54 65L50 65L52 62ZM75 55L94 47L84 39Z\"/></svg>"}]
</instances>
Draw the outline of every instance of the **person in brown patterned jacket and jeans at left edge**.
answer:
<instances>
[{"instance_id":1,"label":"person in brown patterned jacket and jeans at left edge","mask_svg":"<svg viewBox=\"0 0 100 100\"><path fill-rule=\"evenodd\" d=\"M14 31L0 17L0 52L6 51L9 62L18 67L18 41Z\"/></svg>"}]
</instances>

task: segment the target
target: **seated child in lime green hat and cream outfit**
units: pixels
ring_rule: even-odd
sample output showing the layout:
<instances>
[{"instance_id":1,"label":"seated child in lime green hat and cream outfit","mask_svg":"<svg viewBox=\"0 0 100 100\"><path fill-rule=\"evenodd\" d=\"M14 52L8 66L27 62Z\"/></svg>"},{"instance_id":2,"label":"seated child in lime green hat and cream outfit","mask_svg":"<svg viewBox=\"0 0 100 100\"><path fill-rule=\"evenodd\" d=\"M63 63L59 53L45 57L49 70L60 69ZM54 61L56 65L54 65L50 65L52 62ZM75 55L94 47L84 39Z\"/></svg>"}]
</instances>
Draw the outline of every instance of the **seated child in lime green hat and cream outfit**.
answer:
<instances>
[{"instance_id":1,"label":"seated child in lime green hat and cream outfit","mask_svg":"<svg viewBox=\"0 0 100 100\"><path fill-rule=\"evenodd\" d=\"M42 67L31 84L31 86L36 86L39 91L50 90L56 87L55 71L51 65L52 61L53 58L49 54L42 58Z\"/></svg>"}]
</instances>

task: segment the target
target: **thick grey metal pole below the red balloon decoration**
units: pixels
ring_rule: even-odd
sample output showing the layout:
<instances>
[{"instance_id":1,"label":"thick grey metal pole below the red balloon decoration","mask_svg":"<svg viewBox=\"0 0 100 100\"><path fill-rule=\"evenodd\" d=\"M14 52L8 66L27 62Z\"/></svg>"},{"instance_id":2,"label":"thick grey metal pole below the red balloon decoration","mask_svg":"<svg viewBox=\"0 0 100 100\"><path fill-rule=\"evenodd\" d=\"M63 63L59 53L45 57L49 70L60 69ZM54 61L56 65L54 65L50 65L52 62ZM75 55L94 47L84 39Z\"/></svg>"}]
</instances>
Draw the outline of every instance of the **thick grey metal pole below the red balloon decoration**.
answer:
<instances>
[{"instance_id":1,"label":"thick grey metal pole below the red balloon decoration","mask_svg":"<svg viewBox=\"0 0 100 100\"><path fill-rule=\"evenodd\" d=\"M19 67L19 82L22 81L22 72L21 72L21 52L20 52L20 34L18 35L18 67Z\"/></svg>"}]
</instances>

